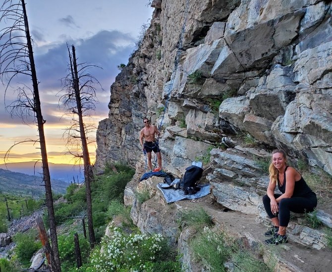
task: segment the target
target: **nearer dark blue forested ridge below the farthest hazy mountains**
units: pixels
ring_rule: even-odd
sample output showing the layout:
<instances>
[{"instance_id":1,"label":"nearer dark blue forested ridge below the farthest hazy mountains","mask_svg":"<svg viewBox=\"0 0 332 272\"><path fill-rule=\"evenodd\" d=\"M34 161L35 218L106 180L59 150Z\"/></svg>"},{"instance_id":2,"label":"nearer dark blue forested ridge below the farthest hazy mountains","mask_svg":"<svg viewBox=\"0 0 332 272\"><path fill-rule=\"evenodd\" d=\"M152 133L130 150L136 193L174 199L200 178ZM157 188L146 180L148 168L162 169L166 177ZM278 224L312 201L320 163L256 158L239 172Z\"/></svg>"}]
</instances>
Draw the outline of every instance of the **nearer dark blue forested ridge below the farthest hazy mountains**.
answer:
<instances>
[{"instance_id":1,"label":"nearer dark blue forested ridge below the farthest hazy mountains","mask_svg":"<svg viewBox=\"0 0 332 272\"><path fill-rule=\"evenodd\" d=\"M52 191L55 193L64 193L67 182L51 180ZM22 173L11 172L0 169L0 192L15 195L45 195L44 182L40 176L29 176Z\"/></svg>"}]
</instances>

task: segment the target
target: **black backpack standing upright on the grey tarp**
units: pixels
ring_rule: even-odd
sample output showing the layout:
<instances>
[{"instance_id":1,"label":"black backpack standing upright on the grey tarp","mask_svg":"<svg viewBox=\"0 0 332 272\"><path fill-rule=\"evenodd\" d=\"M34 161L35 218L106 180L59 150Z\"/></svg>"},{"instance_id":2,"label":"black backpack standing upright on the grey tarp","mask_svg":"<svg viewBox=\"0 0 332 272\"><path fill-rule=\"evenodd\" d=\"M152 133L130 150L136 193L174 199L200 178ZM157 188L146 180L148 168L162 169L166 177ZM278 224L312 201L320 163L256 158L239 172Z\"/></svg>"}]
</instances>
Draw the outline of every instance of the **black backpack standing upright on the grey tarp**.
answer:
<instances>
[{"instance_id":1,"label":"black backpack standing upright on the grey tarp","mask_svg":"<svg viewBox=\"0 0 332 272\"><path fill-rule=\"evenodd\" d=\"M203 169L198 166L192 165L186 168L180 183L180 188L183 189L184 194L195 194L200 190L197 184L202 174Z\"/></svg>"}]
</instances>

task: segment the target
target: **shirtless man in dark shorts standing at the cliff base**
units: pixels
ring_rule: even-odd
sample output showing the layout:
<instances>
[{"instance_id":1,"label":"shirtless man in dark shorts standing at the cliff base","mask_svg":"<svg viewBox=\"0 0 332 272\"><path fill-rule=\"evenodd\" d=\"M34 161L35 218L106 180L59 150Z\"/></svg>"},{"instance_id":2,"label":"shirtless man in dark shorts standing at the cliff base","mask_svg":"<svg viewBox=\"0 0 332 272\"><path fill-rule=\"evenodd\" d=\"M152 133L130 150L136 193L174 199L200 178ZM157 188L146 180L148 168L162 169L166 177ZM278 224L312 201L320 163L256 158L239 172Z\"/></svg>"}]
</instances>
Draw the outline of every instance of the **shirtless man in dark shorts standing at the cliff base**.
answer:
<instances>
[{"instance_id":1,"label":"shirtless man in dark shorts standing at the cliff base","mask_svg":"<svg viewBox=\"0 0 332 272\"><path fill-rule=\"evenodd\" d=\"M156 126L150 125L148 118L144 118L143 122L144 128L141 130L139 141L142 145L143 152L145 150L147 153L149 170L152 170L151 152L153 151L155 154L157 154L158 168L156 168L154 171L158 172L162 170L162 155L160 154L160 148L158 142L156 141L155 134L160 136L160 132ZM143 138L145 140L144 143Z\"/></svg>"}]
</instances>

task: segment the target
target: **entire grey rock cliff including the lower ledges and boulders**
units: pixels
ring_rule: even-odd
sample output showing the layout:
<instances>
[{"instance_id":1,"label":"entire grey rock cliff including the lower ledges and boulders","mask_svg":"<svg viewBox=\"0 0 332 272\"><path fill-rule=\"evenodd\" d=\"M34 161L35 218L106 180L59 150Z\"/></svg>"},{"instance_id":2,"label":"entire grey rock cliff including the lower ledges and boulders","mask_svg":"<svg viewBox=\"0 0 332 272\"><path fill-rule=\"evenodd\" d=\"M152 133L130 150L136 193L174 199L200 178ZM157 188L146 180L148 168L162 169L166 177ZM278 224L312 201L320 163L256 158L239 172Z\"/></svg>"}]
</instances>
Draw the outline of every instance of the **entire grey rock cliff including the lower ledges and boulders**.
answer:
<instances>
[{"instance_id":1,"label":"entire grey rock cliff including the lower ledges and boulders","mask_svg":"<svg viewBox=\"0 0 332 272\"><path fill-rule=\"evenodd\" d=\"M167 205L156 190L158 178L137 186L145 166L139 131L143 118L150 118L161 126L163 169L179 176L195 158L210 159L204 178L212 202L233 213L209 208L208 198L199 202L217 225L230 232L237 226L237 235L257 249L263 240L257 233L264 231L256 228L268 222L261 197L269 181L257 158L270 158L267 151L281 147L294 163L306 161L311 170L332 175L331 1L154 0L152 6L141 47L111 86L109 118L97 132L96 166L127 161L136 167L124 199L134 223L175 243L175 215L190 203ZM245 137L260 148L244 147ZM134 192L144 186L151 199L139 204ZM317 216L332 227L331 215L319 210ZM292 220L288 236L322 252L326 234L302 221ZM190 271L202 271L191 264L186 231L179 252ZM295 262L300 268L280 261L274 271L330 270L330 252L315 258Z\"/></svg>"}]
</instances>

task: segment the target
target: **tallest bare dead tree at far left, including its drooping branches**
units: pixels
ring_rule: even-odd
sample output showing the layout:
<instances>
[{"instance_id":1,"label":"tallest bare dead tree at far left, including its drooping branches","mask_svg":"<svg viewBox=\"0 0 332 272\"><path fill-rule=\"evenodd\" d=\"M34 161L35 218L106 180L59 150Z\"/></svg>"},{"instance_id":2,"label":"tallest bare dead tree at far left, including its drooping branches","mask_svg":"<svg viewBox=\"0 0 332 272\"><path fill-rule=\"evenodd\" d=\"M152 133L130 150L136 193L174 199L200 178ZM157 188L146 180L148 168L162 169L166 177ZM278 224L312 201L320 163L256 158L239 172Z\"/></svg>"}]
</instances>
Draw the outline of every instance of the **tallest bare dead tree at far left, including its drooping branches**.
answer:
<instances>
[{"instance_id":1,"label":"tallest bare dead tree at far left, including its drooping branches","mask_svg":"<svg viewBox=\"0 0 332 272\"><path fill-rule=\"evenodd\" d=\"M23 80L24 76L32 80L32 89L25 84L17 87L17 99L7 110L11 116L25 120L32 117L38 127L39 144L42 156L43 181L47 199L52 240L52 272L61 272L60 258L55 228L53 196L44 134L44 120L38 90L38 80L29 31L28 17L24 0L4 0L0 6L0 21L7 27L0 31L0 79L5 86L5 94L11 88L14 79Z\"/></svg>"}]
</instances>

